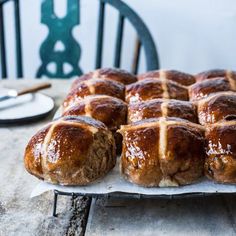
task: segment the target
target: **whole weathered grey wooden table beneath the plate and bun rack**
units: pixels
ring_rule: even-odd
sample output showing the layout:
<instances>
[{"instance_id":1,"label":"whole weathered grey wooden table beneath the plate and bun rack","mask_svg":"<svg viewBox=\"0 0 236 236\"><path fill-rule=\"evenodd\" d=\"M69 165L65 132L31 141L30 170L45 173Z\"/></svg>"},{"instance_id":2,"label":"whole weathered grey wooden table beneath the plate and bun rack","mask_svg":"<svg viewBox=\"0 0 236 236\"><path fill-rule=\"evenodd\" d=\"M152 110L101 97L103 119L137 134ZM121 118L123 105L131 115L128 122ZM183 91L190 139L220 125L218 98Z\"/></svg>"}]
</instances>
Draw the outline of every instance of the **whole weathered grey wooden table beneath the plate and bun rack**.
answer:
<instances>
[{"instance_id":1,"label":"whole weathered grey wooden table beneath the plate and bun rack","mask_svg":"<svg viewBox=\"0 0 236 236\"><path fill-rule=\"evenodd\" d=\"M4 81L20 86L38 81ZM70 81L52 80L44 93L62 102ZM53 115L53 114L52 114ZM183 199L97 199L88 222L86 198L61 197L58 217L52 217L53 193L30 199L38 183L23 166L29 138L40 122L0 128L0 235L236 235L236 197L221 195ZM87 227L86 227L87 224ZM85 232L86 228L86 232Z\"/></svg>"}]
</instances>

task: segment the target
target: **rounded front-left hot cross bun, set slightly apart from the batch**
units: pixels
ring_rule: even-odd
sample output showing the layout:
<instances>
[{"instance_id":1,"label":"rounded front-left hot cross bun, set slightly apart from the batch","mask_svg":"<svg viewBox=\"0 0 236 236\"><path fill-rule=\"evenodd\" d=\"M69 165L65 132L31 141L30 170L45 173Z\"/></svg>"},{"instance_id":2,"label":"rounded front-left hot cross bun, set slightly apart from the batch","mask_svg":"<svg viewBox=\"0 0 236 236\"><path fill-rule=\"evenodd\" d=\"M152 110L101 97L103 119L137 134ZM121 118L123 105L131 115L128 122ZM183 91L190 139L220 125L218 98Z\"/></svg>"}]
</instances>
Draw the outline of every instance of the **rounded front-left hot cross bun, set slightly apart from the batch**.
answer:
<instances>
[{"instance_id":1,"label":"rounded front-left hot cross bun, set slightly apart from the batch","mask_svg":"<svg viewBox=\"0 0 236 236\"><path fill-rule=\"evenodd\" d=\"M100 121L63 117L31 138L24 163L30 174L46 182L87 185L115 166L114 138Z\"/></svg>"}]
</instances>

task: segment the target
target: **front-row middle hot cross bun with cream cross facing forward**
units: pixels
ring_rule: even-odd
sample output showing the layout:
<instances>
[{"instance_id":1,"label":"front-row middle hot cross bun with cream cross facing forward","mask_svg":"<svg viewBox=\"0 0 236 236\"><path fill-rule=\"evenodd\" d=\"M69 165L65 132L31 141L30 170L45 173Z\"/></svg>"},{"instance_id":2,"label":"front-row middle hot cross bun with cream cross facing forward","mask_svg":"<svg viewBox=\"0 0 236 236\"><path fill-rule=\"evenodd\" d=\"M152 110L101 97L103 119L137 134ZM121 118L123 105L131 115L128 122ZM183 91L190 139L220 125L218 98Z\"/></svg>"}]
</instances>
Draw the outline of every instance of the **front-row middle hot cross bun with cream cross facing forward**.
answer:
<instances>
[{"instance_id":1,"label":"front-row middle hot cross bun with cream cross facing forward","mask_svg":"<svg viewBox=\"0 0 236 236\"><path fill-rule=\"evenodd\" d=\"M119 132L121 172L130 182L153 187L166 186L165 180L168 186L178 186L202 176L205 153L200 125L177 118L147 119L122 126Z\"/></svg>"}]
</instances>

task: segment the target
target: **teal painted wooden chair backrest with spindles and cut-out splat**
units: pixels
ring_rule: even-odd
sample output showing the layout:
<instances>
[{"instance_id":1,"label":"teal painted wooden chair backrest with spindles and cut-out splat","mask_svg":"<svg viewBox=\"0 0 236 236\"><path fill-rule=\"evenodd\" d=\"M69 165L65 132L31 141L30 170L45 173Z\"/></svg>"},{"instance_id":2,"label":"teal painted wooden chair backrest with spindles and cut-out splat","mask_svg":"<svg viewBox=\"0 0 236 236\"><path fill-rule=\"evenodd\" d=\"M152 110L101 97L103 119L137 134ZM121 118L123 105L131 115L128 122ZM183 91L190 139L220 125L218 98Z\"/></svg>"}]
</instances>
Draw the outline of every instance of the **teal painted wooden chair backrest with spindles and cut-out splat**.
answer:
<instances>
[{"instance_id":1,"label":"teal painted wooden chair backrest with spindles and cut-out splat","mask_svg":"<svg viewBox=\"0 0 236 236\"><path fill-rule=\"evenodd\" d=\"M3 5L6 2L14 2L15 18L15 42L16 42L16 65L17 77L23 77L22 67L22 49L21 49L21 27L20 27L20 7L19 0L0 0L0 60L1 72L0 78L7 78L7 61L6 61L6 44L4 35L4 17ZM104 39L104 22L106 14L106 5L109 4L119 13L117 34L115 42L114 67L120 68L122 41L124 36L125 21L128 20L137 33L136 50L132 72L137 73L140 59L140 51L143 48L147 70L159 68L159 60L152 36L142 21L142 19L124 2L120 0L98 0L99 1L99 18L97 30L97 48L95 68L102 67L103 39ZM80 1L67 0L67 15L64 18L58 18L53 10L53 0L43 0L41 5L41 22L49 28L49 34L40 47L40 57L42 64L37 70L36 77L46 76L49 78L70 78L74 75L81 75L82 70L78 66L81 54L81 48L72 36L72 29L79 24L80 19ZM63 29L63 30L62 30ZM66 30L65 30L66 29ZM55 44L60 42L64 45L63 51L55 51ZM84 49L85 50L85 49ZM48 70L49 63L56 64L55 73ZM64 63L69 64L72 69L66 73L63 69Z\"/></svg>"}]
</instances>

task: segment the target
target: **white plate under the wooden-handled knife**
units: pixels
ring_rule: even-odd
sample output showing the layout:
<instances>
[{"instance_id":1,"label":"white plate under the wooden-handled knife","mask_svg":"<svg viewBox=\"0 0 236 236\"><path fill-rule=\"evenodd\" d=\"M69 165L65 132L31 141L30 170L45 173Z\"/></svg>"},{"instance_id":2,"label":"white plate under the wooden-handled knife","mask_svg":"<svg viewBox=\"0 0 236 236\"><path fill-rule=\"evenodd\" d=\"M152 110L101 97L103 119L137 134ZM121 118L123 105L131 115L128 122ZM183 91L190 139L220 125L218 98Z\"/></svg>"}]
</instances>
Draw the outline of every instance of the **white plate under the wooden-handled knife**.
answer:
<instances>
[{"instance_id":1,"label":"white plate under the wooden-handled knife","mask_svg":"<svg viewBox=\"0 0 236 236\"><path fill-rule=\"evenodd\" d=\"M6 90L1 89L0 95ZM41 94L25 94L0 102L0 124L18 123L47 116L54 108L52 98Z\"/></svg>"}]
</instances>

